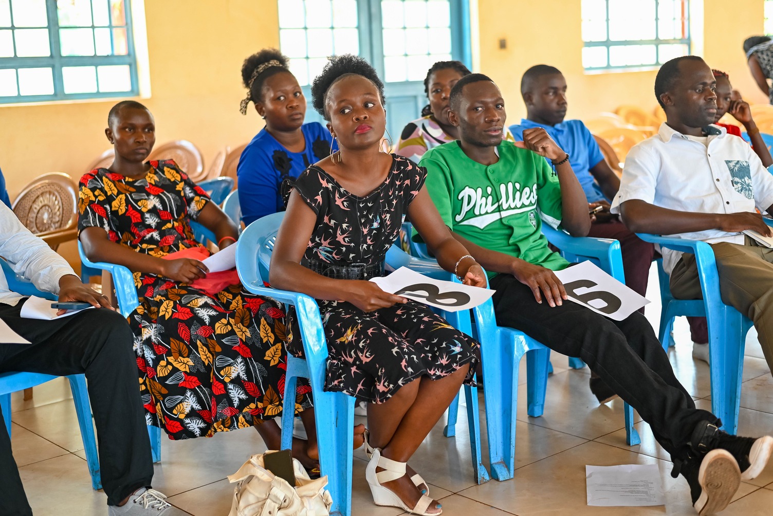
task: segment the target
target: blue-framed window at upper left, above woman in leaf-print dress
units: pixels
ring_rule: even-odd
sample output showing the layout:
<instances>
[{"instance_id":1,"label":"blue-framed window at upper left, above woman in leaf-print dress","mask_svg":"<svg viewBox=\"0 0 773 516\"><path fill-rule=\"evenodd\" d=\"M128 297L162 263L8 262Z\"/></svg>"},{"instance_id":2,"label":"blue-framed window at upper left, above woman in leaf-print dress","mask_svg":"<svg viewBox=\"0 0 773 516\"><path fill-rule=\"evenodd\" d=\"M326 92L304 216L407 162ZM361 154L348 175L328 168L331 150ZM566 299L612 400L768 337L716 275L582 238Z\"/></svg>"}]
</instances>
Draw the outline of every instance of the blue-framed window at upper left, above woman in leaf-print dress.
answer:
<instances>
[{"instance_id":1,"label":"blue-framed window at upper left, above woman in leaf-print dress","mask_svg":"<svg viewBox=\"0 0 773 516\"><path fill-rule=\"evenodd\" d=\"M0 104L138 94L130 0L0 0Z\"/></svg>"}]
</instances>

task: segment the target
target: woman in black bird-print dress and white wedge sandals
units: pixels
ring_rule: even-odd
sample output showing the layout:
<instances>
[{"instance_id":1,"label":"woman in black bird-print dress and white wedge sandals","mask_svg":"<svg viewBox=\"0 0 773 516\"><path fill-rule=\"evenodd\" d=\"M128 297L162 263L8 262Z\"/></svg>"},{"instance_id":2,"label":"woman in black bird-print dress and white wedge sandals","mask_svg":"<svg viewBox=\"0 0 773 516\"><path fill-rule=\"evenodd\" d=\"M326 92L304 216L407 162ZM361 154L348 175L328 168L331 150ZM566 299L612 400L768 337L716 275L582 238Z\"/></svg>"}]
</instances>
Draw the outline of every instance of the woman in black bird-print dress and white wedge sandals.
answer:
<instances>
[{"instance_id":1,"label":"woman in black bird-print dress and white wedge sandals","mask_svg":"<svg viewBox=\"0 0 773 516\"><path fill-rule=\"evenodd\" d=\"M446 270L479 287L485 274L444 226L424 168L381 151L386 113L373 66L357 56L332 57L312 94L340 151L295 180L271 256L271 285L318 300L329 353L325 390L368 402L373 501L440 514L407 460L462 382L472 382L478 344L426 305L367 280L383 275L407 214ZM300 355L302 346L288 336L288 350Z\"/></svg>"}]
</instances>

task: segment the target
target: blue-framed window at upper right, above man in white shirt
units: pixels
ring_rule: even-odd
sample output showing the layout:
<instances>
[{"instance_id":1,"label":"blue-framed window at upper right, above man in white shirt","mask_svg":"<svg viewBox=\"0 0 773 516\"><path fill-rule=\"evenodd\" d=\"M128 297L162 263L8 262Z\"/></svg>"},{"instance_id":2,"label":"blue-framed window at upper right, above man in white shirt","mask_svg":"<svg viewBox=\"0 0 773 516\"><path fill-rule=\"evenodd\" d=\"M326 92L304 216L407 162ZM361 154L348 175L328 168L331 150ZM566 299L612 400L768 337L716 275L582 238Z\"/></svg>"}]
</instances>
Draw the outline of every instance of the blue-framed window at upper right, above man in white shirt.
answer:
<instances>
[{"instance_id":1,"label":"blue-framed window at upper right, above man in white shirt","mask_svg":"<svg viewBox=\"0 0 773 516\"><path fill-rule=\"evenodd\" d=\"M690 0L582 0L586 71L657 68L690 54Z\"/></svg>"}]
</instances>

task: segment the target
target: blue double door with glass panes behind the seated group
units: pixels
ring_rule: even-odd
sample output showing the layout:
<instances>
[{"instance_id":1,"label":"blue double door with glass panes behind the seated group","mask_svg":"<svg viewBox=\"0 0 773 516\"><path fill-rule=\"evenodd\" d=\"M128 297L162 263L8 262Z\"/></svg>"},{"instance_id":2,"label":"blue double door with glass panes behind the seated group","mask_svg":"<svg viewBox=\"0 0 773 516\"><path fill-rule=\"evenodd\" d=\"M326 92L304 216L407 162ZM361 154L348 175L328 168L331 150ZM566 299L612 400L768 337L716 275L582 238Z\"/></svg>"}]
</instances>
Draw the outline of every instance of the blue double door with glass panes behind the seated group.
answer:
<instances>
[{"instance_id":1,"label":"blue double door with glass panes behind the seated group","mask_svg":"<svg viewBox=\"0 0 773 516\"><path fill-rule=\"evenodd\" d=\"M305 95L328 56L363 56L385 84L396 136L427 104L423 81L433 63L472 66L467 0L278 0L278 8L280 49ZM321 117L307 110L306 121Z\"/></svg>"}]
</instances>

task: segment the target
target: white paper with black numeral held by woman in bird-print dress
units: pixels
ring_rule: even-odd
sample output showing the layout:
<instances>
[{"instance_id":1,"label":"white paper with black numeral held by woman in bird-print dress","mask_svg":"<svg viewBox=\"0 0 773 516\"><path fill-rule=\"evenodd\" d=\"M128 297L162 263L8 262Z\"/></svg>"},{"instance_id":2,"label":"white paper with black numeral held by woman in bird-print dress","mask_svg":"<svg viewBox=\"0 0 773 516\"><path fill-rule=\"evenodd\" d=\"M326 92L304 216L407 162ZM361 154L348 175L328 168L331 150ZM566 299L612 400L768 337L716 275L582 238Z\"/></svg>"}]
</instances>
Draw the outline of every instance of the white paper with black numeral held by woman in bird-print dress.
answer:
<instances>
[{"instance_id":1,"label":"white paper with black numeral held by woman in bird-print dress","mask_svg":"<svg viewBox=\"0 0 773 516\"><path fill-rule=\"evenodd\" d=\"M371 281L390 294L408 297L449 312L477 307L495 292L453 281L434 280L407 267L400 267L389 276L376 277Z\"/></svg>"}]
</instances>

